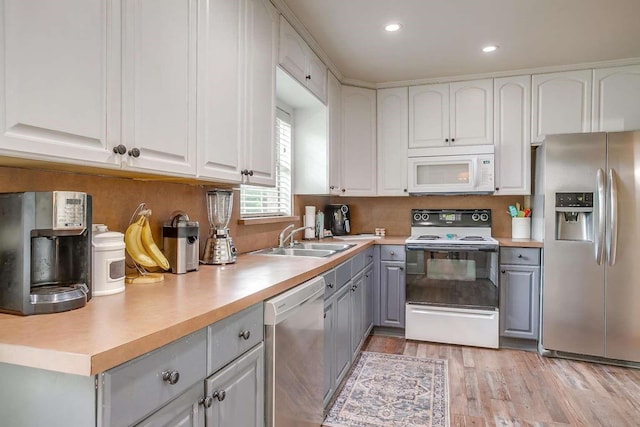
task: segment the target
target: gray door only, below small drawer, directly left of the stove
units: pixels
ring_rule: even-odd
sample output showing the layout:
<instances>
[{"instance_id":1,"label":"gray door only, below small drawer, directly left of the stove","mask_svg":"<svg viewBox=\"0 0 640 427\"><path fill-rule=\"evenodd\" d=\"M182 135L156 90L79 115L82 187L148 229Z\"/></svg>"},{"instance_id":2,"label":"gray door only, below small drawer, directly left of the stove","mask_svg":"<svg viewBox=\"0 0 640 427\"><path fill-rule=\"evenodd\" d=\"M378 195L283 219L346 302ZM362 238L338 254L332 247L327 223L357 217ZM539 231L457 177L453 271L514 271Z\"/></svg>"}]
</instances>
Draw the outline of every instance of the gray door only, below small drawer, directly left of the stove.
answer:
<instances>
[{"instance_id":1,"label":"gray door only, below small drawer, directly left of the stove","mask_svg":"<svg viewBox=\"0 0 640 427\"><path fill-rule=\"evenodd\" d=\"M380 262L380 326L404 328L404 261Z\"/></svg>"}]
</instances>

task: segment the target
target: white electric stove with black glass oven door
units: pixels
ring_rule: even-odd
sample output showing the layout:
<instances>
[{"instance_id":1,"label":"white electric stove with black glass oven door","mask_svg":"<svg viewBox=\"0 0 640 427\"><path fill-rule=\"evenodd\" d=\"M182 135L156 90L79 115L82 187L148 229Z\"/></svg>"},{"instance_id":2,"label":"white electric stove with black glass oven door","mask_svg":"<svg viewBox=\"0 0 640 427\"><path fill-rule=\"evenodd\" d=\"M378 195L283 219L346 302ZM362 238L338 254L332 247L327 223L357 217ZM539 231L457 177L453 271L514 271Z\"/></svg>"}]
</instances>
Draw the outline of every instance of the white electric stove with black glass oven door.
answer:
<instances>
[{"instance_id":1,"label":"white electric stove with black glass oven door","mask_svg":"<svg viewBox=\"0 0 640 427\"><path fill-rule=\"evenodd\" d=\"M405 338L498 348L491 211L412 209L405 248Z\"/></svg>"}]
</instances>

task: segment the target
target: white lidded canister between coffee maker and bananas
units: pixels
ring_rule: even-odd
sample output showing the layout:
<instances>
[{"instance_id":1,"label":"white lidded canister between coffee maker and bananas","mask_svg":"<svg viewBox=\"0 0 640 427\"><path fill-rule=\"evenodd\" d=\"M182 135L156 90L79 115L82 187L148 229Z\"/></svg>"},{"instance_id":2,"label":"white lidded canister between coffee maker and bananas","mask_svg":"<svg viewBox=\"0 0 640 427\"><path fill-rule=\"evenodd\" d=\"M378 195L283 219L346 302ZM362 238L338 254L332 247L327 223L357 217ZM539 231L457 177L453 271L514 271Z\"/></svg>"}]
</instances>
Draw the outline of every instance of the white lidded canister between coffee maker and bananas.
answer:
<instances>
[{"instance_id":1,"label":"white lidded canister between coffee maker and bananas","mask_svg":"<svg viewBox=\"0 0 640 427\"><path fill-rule=\"evenodd\" d=\"M112 295L124 291L124 234L108 231L103 224L94 224L91 271L91 294Z\"/></svg>"}]
</instances>

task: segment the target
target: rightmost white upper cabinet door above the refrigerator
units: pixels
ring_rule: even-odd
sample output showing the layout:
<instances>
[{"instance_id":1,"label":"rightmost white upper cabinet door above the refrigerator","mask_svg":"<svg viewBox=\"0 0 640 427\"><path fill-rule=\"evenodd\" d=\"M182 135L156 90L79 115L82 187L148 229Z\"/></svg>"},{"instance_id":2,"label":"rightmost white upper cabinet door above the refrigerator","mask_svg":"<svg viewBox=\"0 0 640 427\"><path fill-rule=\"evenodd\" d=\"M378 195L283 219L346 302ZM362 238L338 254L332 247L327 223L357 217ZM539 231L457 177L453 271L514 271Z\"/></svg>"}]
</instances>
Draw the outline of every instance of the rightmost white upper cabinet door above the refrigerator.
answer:
<instances>
[{"instance_id":1,"label":"rightmost white upper cabinet door above the refrigerator","mask_svg":"<svg viewBox=\"0 0 640 427\"><path fill-rule=\"evenodd\" d=\"M593 71L593 131L640 129L640 65Z\"/></svg>"}]
</instances>

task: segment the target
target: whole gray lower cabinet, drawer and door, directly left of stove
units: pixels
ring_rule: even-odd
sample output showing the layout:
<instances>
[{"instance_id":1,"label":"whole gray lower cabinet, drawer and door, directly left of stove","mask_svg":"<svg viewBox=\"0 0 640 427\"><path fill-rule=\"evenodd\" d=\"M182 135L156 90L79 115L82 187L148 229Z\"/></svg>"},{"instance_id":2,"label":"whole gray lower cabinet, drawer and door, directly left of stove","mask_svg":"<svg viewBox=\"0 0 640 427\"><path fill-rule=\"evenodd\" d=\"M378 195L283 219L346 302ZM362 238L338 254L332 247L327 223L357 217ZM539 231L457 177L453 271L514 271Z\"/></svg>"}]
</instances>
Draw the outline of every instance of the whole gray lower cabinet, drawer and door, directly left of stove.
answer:
<instances>
[{"instance_id":1,"label":"whole gray lower cabinet, drawer and door, directly left of stove","mask_svg":"<svg viewBox=\"0 0 640 427\"><path fill-rule=\"evenodd\" d=\"M376 326L404 328L406 302L405 250L403 245L380 247L377 277Z\"/></svg>"}]
</instances>

